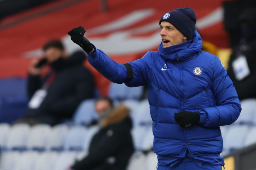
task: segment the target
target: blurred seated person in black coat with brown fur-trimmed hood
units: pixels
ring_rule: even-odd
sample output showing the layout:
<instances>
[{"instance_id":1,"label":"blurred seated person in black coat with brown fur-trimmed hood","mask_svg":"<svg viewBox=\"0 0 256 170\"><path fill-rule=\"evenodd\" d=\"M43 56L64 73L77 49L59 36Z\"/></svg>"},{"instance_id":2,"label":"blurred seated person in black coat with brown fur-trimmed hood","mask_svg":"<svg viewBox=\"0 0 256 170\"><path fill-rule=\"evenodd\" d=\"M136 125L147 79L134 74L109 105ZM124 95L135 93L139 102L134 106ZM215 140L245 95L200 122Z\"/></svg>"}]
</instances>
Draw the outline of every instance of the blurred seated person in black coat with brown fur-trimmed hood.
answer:
<instances>
[{"instance_id":1,"label":"blurred seated person in black coat with brown fur-trimmed hood","mask_svg":"<svg viewBox=\"0 0 256 170\"><path fill-rule=\"evenodd\" d=\"M95 102L95 110L99 117L99 131L91 140L88 155L71 169L126 170L134 152L129 110L124 105L114 108L108 97L99 98Z\"/></svg>"}]
</instances>

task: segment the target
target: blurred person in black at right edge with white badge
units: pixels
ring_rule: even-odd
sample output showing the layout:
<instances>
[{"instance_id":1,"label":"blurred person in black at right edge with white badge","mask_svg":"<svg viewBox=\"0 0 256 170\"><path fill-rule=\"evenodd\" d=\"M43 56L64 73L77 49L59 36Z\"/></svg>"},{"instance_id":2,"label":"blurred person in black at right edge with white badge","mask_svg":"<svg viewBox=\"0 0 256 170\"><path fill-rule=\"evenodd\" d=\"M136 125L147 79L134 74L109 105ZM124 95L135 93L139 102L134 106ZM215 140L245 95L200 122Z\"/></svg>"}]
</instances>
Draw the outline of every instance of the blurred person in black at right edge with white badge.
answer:
<instances>
[{"instance_id":1,"label":"blurred person in black at right edge with white badge","mask_svg":"<svg viewBox=\"0 0 256 170\"><path fill-rule=\"evenodd\" d=\"M233 48L227 74L240 100L256 98L256 8L247 8L239 16L240 42Z\"/></svg>"}]
</instances>

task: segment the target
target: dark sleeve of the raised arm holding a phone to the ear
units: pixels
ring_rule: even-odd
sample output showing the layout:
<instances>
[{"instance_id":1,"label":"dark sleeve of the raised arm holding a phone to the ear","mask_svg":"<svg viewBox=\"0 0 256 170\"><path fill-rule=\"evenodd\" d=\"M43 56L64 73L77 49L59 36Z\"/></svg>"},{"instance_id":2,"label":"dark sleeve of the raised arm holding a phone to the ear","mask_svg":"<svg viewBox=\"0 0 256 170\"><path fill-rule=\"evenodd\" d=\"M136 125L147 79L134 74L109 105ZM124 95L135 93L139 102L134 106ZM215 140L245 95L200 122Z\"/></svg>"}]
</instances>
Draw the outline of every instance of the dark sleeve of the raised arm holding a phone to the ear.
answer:
<instances>
[{"instance_id":1,"label":"dark sleeve of the raised arm holding a phone to the ear","mask_svg":"<svg viewBox=\"0 0 256 170\"><path fill-rule=\"evenodd\" d=\"M40 88L41 79L40 76L33 76L29 74L27 78L27 93L29 98L31 99L34 93Z\"/></svg>"}]
</instances>

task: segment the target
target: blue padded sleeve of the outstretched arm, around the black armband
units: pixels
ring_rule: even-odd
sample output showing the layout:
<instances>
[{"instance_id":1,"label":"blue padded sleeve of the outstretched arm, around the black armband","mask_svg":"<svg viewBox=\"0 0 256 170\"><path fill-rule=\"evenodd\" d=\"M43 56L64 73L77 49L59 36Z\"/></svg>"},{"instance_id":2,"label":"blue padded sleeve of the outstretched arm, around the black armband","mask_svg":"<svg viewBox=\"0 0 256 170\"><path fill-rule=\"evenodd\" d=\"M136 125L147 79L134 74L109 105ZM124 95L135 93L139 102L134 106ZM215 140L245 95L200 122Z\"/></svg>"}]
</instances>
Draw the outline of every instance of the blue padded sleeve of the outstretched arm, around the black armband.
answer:
<instances>
[{"instance_id":1,"label":"blue padded sleeve of the outstretched arm, around the black armband","mask_svg":"<svg viewBox=\"0 0 256 170\"><path fill-rule=\"evenodd\" d=\"M129 83L126 83L127 86L136 87L146 84L148 69L144 60L151 56L150 52L146 53L145 56L142 59L129 62L133 69L133 79ZM95 52L88 54L88 61L99 73L111 82L118 84L125 82L127 78L126 67L110 59L102 50L95 48Z\"/></svg>"}]
</instances>

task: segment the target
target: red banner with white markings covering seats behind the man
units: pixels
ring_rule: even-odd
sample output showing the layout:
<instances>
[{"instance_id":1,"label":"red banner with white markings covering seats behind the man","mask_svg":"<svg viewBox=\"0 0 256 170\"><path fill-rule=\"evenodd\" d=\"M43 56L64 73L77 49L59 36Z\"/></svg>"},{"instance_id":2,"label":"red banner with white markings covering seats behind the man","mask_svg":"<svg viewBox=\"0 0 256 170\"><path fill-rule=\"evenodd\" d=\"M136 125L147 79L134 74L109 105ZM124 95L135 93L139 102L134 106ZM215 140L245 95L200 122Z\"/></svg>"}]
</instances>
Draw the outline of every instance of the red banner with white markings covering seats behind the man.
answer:
<instances>
[{"instance_id":1,"label":"red banner with white markings covering seats behind the man","mask_svg":"<svg viewBox=\"0 0 256 170\"><path fill-rule=\"evenodd\" d=\"M42 55L41 47L49 39L63 40L67 52L79 49L67 31L79 25L86 37L113 60L125 63L156 51L161 42L159 20L170 10L188 6L197 15L197 29L203 40L227 48L221 1L216 0L108 0L107 12L101 0L55 1L0 22L0 78L26 77L29 62ZM91 69L103 94L109 81Z\"/></svg>"}]
</instances>

